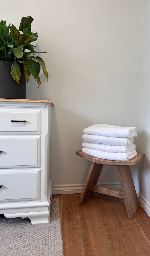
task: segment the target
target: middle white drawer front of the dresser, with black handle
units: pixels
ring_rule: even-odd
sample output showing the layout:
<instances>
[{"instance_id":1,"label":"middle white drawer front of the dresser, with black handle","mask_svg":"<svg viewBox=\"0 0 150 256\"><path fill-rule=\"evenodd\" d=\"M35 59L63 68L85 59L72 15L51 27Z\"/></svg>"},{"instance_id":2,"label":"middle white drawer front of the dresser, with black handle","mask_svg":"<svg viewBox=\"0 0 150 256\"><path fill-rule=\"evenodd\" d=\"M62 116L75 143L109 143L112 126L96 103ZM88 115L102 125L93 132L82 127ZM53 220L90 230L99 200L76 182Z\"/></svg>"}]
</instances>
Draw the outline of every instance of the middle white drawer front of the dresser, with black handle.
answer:
<instances>
[{"instance_id":1,"label":"middle white drawer front of the dresser, with black handle","mask_svg":"<svg viewBox=\"0 0 150 256\"><path fill-rule=\"evenodd\" d=\"M40 136L0 136L0 166L40 167Z\"/></svg>"}]
</instances>

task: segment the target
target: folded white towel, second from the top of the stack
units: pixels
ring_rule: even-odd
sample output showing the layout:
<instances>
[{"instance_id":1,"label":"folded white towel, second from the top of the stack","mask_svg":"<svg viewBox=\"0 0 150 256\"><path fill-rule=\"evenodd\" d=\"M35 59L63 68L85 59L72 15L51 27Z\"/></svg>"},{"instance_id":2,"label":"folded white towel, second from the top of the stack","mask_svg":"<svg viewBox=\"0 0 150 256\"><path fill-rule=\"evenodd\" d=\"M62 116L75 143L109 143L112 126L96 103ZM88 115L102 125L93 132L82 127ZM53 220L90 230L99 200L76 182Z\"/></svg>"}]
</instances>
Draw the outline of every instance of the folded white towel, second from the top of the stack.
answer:
<instances>
[{"instance_id":1,"label":"folded white towel, second from the top of the stack","mask_svg":"<svg viewBox=\"0 0 150 256\"><path fill-rule=\"evenodd\" d=\"M106 144L106 145L128 146L134 142L134 137L128 139L128 138L116 138L116 137L107 137L107 136L101 136L101 135L83 134L82 141Z\"/></svg>"}]
</instances>

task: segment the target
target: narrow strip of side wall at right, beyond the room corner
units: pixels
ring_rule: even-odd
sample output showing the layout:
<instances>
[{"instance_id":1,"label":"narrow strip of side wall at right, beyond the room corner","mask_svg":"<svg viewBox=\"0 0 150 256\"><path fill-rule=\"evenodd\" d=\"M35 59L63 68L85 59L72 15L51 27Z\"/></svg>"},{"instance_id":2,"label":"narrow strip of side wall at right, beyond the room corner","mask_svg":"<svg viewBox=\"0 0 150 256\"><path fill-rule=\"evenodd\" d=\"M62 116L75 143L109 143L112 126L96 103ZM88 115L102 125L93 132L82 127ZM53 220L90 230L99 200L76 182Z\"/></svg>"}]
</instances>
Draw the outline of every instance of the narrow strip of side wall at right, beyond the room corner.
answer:
<instances>
[{"instance_id":1,"label":"narrow strip of side wall at right, beyond the room corner","mask_svg":"<svg viewBox=\"0 0 150 256\"><path fill-rule=\"evenodd\" d=\"M134 125L137 126L138 153L144 160L132 169L141 206L150 216L150 2L142 1L139 61Z\"/></svg>"}]
</instances>

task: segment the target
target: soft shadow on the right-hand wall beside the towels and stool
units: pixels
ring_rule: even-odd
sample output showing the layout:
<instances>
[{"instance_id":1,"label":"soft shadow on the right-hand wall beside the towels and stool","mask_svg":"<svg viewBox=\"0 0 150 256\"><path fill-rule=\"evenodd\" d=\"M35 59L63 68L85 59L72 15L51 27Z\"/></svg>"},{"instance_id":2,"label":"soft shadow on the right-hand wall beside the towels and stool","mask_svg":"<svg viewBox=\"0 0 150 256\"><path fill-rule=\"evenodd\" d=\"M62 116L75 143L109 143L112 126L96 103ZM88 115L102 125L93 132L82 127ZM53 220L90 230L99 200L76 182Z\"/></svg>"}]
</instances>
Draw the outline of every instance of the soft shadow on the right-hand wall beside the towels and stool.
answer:
<instances>
[{"instance_id":1,"label":"soft shadow on the right-hand wall beside the towels and stool","mask_svg":"<svg viewBox=\"0 0 150 256\"><path fill-rule=\"evenodd\" d=\"M135 138L136 150L138 154L144 153L144 159L132 166L132 176L136 189L145 198L149 198L150 180L150 134L143 131Z\"/></svg>"}]
</instances>

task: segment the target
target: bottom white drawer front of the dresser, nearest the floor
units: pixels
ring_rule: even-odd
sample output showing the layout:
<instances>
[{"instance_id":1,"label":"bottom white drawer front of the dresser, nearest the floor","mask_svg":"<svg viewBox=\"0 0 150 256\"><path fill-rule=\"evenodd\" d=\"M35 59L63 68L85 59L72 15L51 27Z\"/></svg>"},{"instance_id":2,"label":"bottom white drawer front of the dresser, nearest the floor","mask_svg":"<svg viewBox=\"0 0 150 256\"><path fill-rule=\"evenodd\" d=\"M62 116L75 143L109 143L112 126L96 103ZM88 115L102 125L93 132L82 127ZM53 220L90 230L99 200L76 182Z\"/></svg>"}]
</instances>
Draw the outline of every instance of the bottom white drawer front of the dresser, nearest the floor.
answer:
<instances>
[{"instance_id":1,"label":"bottom white drawer front of the dresser, nearest the floor","mask_svg":"<svg viewBox=\"0 0 150 256\"><path fill-rule=\"evenodd\" d=\"M1 170L0 200L40 199L40 170Z\"/></svg>"}]
</instances>

